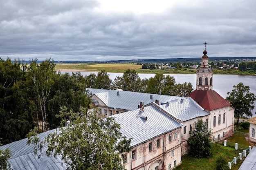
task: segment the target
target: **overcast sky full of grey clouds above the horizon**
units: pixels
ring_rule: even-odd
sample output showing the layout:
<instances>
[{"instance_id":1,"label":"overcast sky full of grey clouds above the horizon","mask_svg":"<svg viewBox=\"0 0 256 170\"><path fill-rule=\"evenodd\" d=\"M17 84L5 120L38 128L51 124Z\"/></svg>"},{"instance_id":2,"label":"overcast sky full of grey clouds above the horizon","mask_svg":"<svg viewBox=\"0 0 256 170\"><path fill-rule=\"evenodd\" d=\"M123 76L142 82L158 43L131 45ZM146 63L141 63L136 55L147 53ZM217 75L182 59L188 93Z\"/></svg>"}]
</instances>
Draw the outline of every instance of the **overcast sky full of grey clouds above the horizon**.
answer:
<instances>
[{"instance_id":1,"label":"overcast sky full of grey clouds above the horizon","mask_svg":"<svg viewBox=\"0 0 256 170\"><path fill-rule=\"evenodd\" d=\"M0 0L0 57L256 56L256 0Z\"/></svg>"}]
</instances>

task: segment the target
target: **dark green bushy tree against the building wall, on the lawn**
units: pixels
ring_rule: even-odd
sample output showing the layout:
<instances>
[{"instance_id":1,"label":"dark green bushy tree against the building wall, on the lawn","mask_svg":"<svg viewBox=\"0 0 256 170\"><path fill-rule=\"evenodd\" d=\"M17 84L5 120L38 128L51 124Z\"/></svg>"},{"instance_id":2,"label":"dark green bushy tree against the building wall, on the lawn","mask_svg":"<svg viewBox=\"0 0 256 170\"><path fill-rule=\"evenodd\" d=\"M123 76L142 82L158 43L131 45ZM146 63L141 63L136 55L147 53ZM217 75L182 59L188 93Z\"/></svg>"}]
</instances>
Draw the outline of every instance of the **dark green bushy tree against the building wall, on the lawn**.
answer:
<instances>
[{"instance_id":1,"label":"dark green bushy tree against the building wall, on the lawn","mask_svg":"<svg viewBox=\"0 0 256 170\"><path fill-rule=\"evenodd\" d=\"M212 155L211 134L202 119L195 121L195 129L189 132L188 145L189 155L196 158L209 157Z\"/></svg>"}]
</instances>

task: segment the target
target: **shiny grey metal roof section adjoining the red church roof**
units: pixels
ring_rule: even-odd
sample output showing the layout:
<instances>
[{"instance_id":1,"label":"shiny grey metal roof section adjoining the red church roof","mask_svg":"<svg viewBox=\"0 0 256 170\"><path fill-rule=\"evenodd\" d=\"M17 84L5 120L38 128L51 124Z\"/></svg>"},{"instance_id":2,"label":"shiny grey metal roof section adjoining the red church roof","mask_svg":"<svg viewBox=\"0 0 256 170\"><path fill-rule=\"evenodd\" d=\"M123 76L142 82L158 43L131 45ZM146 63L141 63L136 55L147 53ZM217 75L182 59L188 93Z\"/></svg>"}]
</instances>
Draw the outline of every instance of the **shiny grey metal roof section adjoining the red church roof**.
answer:
<instances>
[{"instance_id":1,"label":"shiny grey metal roof section adjoining the red church roof","mask_svg":"<svg viewBox=\"0 0 256 170\"><path fill-rule=\"evenodd\" d=\"M204 108L198 105L191 97L183 99L183 102L181 102L181 100L170 102L169 106L167 104L163 104L159 105L159 107L173 117L181 119L182 122L196 117L209 115L209 113L204 111Z\"/></svg>"}]
</instances>

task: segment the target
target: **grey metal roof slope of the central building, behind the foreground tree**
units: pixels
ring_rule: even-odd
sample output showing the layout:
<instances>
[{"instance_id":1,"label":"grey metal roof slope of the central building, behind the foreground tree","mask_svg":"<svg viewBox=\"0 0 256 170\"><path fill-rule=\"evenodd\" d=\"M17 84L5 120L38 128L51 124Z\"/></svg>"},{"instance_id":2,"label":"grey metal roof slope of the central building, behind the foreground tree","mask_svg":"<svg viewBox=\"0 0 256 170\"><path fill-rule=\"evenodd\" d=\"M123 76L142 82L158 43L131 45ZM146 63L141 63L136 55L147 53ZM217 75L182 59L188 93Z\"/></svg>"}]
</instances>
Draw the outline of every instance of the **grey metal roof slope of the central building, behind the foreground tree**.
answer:
<instances>
[{"instance_id":1,"label":"grey metal roof slope of the central building, behind the foreground tree","mask_svg":"<svg viewBox=\"0 0 256 170\"><path fill-rule=\"evenodd\" d=\"M147 117L147 120L141 116ZM120 124L121 133L124 136L133 138L131 146L136 146L183 126L153 105L144 107L144 111L136 109L111 117L115 117L115 121Z\"/></svg>"}]
</instances>

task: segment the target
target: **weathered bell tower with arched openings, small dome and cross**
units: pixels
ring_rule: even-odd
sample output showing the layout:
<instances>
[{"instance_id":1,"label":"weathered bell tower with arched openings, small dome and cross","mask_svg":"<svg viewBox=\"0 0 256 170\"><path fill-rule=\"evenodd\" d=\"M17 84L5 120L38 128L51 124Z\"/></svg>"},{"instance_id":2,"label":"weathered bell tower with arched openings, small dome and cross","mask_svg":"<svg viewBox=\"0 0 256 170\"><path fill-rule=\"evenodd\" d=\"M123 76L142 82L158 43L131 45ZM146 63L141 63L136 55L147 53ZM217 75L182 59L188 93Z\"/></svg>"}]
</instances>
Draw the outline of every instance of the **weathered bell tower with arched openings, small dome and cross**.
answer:
<instances>
[{"instance_id":1,"label":"weathered bell tower with arched openings, small dome and cross","mask_svg":"<svg viewBox=\"0 0 256 170\"><path fill-rule=\"evenodd\" d=\"M208 66L208 56L206 51L206 42L204 42L204 52L202 56L202 65L196 71L196 89L201 91L211 91L213 84L213 71Z\"/></svg>"}]
</instances>

